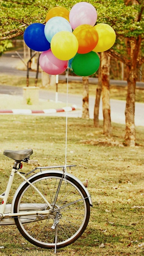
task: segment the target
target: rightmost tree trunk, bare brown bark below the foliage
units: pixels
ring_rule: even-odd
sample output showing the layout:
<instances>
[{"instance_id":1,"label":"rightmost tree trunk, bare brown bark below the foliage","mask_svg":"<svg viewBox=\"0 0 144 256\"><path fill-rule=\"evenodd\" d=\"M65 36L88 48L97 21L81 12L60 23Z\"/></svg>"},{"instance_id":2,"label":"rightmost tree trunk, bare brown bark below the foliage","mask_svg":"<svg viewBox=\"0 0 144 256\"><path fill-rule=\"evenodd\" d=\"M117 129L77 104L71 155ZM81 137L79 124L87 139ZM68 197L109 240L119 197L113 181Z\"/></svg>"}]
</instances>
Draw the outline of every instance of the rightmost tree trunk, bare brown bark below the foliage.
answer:
<instances>
[{"instance_id":1,"label":"rightmost tree trunk, bare brown bark below the foliage","mask_svg":"<svg viewBox=\"0 0 144 256\"><path fill-rule=\"evenodd\" d=\"M127 77L127 98L126 98L126 130L125 130L125 143L127 146L135 146L135 87L136 79L139 69L139 48L141 44L141 37L139 36L137 40L127 40L128 49L127 53L130 54L131 63L129 66L129 73Z\"/></svg>"}]
</instances>

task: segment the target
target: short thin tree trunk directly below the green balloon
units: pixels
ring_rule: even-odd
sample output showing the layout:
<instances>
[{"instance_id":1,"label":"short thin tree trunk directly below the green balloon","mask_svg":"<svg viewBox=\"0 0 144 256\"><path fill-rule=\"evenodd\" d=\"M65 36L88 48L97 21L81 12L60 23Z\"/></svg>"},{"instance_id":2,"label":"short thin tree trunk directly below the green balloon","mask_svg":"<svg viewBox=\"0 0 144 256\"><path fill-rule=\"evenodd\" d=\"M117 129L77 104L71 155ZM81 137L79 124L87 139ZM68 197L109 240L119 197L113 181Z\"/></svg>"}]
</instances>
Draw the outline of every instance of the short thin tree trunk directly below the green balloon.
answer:
<instances>
[{"instance_id":1,"label":"short thin tree trunk directly below the green balloon","mask_svg":"<svg viewBox=\"0 0 144 256\"><path fill-rule=\"evenodd\" d=\"M82 77L83 98L82 98L82 118L89 119L89 77Z\"/></svg>"}]
</instances>

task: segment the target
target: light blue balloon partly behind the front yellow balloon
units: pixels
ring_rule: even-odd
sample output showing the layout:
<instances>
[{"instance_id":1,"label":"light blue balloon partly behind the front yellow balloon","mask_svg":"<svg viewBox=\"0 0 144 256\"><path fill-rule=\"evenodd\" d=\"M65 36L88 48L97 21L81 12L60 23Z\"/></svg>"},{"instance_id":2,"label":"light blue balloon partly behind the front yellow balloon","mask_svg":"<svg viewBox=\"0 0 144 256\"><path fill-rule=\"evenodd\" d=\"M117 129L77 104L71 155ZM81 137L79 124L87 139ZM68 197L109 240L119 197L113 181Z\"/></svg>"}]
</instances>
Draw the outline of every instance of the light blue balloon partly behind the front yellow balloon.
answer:
<instances>
[{"instance_id":1,"label":"light blue balloon partly behind the front yellow balloon","mask_svg":"<svg viewBox=\"0 0 144 256\"><path fill-rule=\"evenodd\" d=\"M45 24L45 37L51 42L53 36L60 31L72 32L71 24L63 17L53 17Z\"/></svg>"}]
</instances>

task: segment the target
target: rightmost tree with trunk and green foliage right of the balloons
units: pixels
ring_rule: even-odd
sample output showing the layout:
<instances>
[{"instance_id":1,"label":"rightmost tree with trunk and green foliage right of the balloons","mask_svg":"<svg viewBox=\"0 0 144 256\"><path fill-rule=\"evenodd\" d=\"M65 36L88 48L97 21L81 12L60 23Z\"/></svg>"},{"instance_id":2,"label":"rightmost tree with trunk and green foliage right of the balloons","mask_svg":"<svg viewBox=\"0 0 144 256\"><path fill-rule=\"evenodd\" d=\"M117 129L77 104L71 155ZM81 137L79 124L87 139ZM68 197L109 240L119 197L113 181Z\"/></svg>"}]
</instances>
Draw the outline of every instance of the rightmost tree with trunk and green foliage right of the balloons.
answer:
<instances>
[{"instance_id":1,"label":"rightmost tree with trunk and green foliage right of the balloons","mask_svg":"<svg viewBox=\"0 0 144 256\"><path fill-rule=\"evenodd\" d=\"M102 0L95 7L99 10L98 23L107 23L116 31L117 41L109 54L127 66L125 143L134 146L135 86L138 70L144 62L143 55L140 56L144 44L144 0ZM120 47L117 48L117 45Z\"/></svg>"}]
</instances>

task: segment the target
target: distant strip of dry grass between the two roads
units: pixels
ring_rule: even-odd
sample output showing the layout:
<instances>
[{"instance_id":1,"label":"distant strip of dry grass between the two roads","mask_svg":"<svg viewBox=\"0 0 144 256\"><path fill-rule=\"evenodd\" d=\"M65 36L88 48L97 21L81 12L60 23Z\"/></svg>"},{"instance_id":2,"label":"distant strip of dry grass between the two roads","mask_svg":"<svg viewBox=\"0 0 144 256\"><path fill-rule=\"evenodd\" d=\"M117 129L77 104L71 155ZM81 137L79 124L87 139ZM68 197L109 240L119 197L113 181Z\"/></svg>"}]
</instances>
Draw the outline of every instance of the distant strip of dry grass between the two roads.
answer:
<instances>
[{"instance_id":1,"label":"distant strip of dry grass between the two roads","mask_svg":"<svg viewBox=\"0 0 144 256\"><path fill-rule=\"evenodd\" d=\"M35 79L30 78L30 86L34 86ZM0 84L1 85L11 85L11 86L26 86L26 78L12 75L0 74ZM38 79L37 86L41 87L41 79ZM58 92L66 93L67 86L60 82L58 84ZM49 91L55 91L55 86L49 86L48 88L42 88ZM81 83L69 82L69 94L82 95L83 87ZM89 95L95 97L96 85L89 85ZM126 100L127 87L111 85L110 87L110 98L118 100ZM144 102L144 90L136 89L136 102Z\"/></svg>"}]
</instances>

